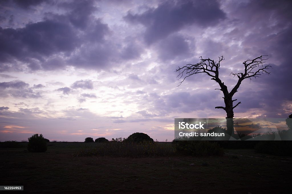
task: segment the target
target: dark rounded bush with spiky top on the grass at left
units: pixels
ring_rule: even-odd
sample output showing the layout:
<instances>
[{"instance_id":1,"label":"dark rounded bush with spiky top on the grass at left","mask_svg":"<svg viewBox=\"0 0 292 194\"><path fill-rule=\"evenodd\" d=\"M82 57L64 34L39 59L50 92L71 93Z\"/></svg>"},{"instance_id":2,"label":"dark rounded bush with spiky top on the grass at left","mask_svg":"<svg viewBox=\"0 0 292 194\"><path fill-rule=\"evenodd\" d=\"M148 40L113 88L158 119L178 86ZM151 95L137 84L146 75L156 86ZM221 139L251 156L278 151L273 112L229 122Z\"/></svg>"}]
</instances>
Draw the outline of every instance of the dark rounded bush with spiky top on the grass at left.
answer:
<instances>
[{"instance_id":1,"label":"dark rounded bush with spiky top on the grass at left","mask_svg":"<svg viewBox=\"0 0 292 194\"><path fill-rule=\"evenodd\" d=\"M34 134L28 138L27 150L30 152L47 151L47 142L42 134Z\"/></svg>"}]
</instances>

